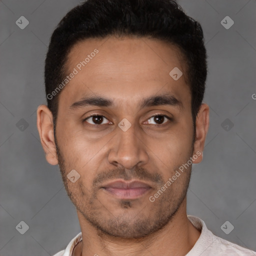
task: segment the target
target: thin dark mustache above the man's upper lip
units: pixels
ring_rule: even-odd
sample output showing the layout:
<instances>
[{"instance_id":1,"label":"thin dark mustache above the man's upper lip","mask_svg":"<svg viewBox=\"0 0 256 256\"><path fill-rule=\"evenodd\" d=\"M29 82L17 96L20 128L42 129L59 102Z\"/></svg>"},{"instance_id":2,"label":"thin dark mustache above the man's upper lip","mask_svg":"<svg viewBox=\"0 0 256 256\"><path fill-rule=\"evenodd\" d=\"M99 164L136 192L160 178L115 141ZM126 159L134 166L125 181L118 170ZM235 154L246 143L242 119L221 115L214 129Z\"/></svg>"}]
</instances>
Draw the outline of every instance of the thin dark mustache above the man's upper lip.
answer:
<instances>
[{"instance_id":1,"label":"thin dark mustache above the man's upper lip","mask_svg":"<svg viewBox=\"0 0 256 256\"><path fill-rule=\"evenodd\" d=\"M102 171L97 174L97 176L93 179L93 186L97 186L103 181L107 181L108 179L118 179L122 178L124 180L130 179L138 179L144 181L151 181L158 185L164 183L161 174L159 173L151 173L142 167L134 167L132 169L126 168L116 168L110 169L108 171Z\"/></svg>"}]
</instances>

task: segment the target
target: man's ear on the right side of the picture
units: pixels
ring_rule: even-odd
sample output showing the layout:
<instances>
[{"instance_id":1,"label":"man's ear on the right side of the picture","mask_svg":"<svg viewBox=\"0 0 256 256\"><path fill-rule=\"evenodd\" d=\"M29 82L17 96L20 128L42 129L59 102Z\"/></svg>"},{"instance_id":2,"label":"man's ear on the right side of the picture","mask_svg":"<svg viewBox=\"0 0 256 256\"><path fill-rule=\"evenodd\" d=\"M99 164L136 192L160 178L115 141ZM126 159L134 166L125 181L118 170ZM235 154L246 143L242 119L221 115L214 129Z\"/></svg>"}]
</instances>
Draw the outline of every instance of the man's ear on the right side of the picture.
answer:
<instances>
[{"instance_id":1,"label":"man's ear on the right side of the picture","mask_svg":"<svg viewBox=\"0 0 256 256\"><path fill-rule=\"evenodd\" d=\"M193 163L199 163L202 160L202 151L206 134L209 127L209 106L202 103L195 121L195 141L193 155L198 157L194 159Z\"/></svg>"}]
</instances>

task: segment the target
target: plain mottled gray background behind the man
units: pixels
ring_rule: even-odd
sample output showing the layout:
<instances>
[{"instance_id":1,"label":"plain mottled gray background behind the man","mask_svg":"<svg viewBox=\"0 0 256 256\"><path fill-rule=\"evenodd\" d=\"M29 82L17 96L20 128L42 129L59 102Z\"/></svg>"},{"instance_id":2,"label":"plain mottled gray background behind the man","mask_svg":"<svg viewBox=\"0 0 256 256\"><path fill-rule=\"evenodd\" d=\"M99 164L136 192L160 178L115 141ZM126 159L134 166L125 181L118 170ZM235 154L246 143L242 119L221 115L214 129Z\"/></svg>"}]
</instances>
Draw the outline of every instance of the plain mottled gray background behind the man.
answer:
<instances>
[{"instance_id":1,"label":"plain mottled gray background behind the man","mask_svg":"<svg viewBox=\"0 0 256 256\"><path fill-rule=\"evenodd\" d=\"M80 232L58 167L44 158L35 112L45 103L43 64L50 34L77 3L0 1L2 256L52 255ZM179 3L203 27L209 70L204 102L210 106L210 128L203 161L193 166L187 212L202 218L214 234L256 250L255 0ZM29 21L24 29L15 24L21 15ZM226 15L234 21L229 29L220 23ZM29 226L24 234L15 229L21 220ZM220 228L226 220L234 226L229 234Z\"/></svg>"}]
</instances>

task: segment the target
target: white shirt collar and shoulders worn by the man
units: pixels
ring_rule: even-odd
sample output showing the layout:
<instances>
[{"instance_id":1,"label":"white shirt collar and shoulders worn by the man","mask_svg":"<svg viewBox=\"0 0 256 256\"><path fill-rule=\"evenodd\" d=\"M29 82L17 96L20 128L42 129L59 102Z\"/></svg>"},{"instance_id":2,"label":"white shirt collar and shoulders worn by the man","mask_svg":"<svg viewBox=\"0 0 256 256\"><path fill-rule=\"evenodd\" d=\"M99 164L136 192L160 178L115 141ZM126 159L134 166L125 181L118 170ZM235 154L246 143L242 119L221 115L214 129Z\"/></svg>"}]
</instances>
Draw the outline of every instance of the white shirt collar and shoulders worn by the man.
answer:
<instances>
[{"instance_id":1,"label":"white shirt collar and shoulders worn by the man","mask_svg":"<svg viewBox=\"0 0 256 256\"><path fill-rule=\"evenodd\" d=\"M205 223L198 217L187 216L193 226L201 231L201 234L185 256L256 256L256 252L243 248L237 244L215 236ZM82 233L78 233L67 245L65 250L61 250L53 256L72 256L74 247L82 240Z\"/></svg>"}]
</instances>

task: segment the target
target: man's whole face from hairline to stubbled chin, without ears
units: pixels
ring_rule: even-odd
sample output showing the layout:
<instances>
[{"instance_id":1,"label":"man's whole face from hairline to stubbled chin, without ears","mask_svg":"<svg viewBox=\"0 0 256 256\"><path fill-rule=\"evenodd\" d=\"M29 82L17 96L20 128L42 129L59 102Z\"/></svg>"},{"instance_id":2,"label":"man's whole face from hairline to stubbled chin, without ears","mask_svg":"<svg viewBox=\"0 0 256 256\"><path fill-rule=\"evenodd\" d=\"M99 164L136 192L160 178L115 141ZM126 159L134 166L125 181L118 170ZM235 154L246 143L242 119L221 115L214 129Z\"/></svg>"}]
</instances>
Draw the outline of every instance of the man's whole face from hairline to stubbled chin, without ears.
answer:
<instances>
[{"instance_id":1,"label":"man's whole face from hairline to stubbled chin, without ears","mask_svg":"<svg viewBox=\"0 0 256 256\"><path fill-rule=\"evenodd\" d=\"M87 39L66 65L67 74L77 73L59 94L55 142L69 198L106 234L159 230L185 201L199 148L179 50L148 38ZM177 80L169 75L174 67L183 72ZM71 170L73 181L80 175L75 182Z\"/></svg>"}]
</instances>

